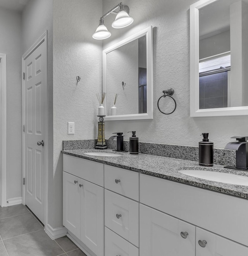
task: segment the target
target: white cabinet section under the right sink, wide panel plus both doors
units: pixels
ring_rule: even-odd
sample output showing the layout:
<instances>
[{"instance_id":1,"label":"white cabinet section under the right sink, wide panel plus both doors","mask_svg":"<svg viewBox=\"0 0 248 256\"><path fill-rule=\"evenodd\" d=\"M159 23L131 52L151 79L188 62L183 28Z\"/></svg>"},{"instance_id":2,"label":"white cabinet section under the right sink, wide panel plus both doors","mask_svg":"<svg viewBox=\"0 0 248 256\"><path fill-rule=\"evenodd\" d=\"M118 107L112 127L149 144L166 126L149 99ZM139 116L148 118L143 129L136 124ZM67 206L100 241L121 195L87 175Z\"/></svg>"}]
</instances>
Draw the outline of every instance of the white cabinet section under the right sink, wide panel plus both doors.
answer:
<instances>
[{"instance_id":1,"label":"white cabinet section under the right sink, wide panel plus both doors","mask_svg":"<svg viewBox=\"0 0 248 256\"><path fill-rule=\"evenodd\" d=\"M248 255L246 199L140 174L140 202L142 256Z\"/></svg>"}]
</instances>

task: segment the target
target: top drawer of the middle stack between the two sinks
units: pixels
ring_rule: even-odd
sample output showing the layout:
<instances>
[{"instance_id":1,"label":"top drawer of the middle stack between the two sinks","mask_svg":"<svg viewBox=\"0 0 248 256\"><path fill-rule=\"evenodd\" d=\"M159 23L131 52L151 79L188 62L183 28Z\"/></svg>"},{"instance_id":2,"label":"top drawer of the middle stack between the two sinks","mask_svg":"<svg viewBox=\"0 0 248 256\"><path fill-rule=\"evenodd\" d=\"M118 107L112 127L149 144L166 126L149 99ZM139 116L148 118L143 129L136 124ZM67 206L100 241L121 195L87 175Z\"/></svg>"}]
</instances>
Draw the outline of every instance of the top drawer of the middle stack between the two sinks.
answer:
<instances>
[{"instance_id":1,"label":"top drawer of the middle stack between the two sinks","mask_svg":"<svg viewBox=\"0 0 248 256\"><path fill-rule=\"evenodd\" d=\"M104 165L105 188L139 201L139 172Z\"/></svg>"}]
</instances>

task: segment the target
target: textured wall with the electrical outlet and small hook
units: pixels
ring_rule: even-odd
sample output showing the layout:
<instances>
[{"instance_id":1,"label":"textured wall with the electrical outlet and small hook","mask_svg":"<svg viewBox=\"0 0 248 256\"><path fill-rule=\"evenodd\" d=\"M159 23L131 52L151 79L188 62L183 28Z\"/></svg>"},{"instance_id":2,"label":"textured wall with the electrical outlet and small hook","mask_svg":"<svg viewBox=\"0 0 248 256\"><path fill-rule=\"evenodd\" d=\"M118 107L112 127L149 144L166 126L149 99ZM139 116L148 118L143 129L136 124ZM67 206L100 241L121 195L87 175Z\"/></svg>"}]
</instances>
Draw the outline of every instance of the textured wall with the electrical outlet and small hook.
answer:
<instances>
[{"instance_id":1,"label":"textured wall with the electrical outlet and small hook","mask_svg":"<svg viewBox=\"0 0 248 256\"><path fill-rule=\"evenodd\" d=\"M62 140L97 137L102 42L92 35L101 16L100 0L53 0L54 228L62 225ZM67 134L67 122L75 122L74 135Z\"/></svg>"}]
</instances>

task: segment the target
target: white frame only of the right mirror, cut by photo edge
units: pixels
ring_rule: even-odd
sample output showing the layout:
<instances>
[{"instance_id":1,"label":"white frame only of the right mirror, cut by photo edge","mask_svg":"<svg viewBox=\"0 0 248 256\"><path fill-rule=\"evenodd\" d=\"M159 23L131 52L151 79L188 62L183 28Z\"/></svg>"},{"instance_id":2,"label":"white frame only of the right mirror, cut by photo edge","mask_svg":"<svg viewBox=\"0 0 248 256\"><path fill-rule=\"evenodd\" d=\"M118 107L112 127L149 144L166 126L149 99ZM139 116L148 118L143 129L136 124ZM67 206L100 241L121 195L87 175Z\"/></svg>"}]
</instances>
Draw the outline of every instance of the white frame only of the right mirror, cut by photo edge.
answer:
<instances>
[{"instance_id":1,"label":"white frame only of the right mirror, cut by photo edge","mask_svg":"<svg viewBox=\"0 0 248 256\"><path fill-rule=\"evenodd\" d=\"M248 106L199 109L199 9L215 1L190 5L190 117L248 115Z\"/></svg>"}]
</instances>

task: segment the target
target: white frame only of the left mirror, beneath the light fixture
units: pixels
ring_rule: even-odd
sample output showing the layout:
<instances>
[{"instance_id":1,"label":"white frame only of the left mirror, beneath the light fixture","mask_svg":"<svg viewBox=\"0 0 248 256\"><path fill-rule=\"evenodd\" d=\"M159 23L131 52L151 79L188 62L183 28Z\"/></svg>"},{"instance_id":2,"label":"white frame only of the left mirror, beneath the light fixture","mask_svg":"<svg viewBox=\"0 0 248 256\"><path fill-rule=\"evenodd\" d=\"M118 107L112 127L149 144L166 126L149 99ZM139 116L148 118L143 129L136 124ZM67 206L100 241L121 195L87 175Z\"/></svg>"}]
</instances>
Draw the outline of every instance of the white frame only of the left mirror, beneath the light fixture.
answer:
<instances>
[{"instance_id":1,"label":"white frame only of the left mirror, beneath the light fixture","mask_svg":"<svg viewBox=\"0 0 248 256\"><path fill-rule=\"evenodd\" d=\"M131 37L114 44L103 50L103 92L107 92L107 53L128 44L146 35L146 82L147 82L147 113L129 114L129 115L106 115L104 120L139 120L153 119L153 44L152 44L152 26L139 31ZM104 103L105 114L107 113L107 100Z\"/></svg>"}]
</instances>

